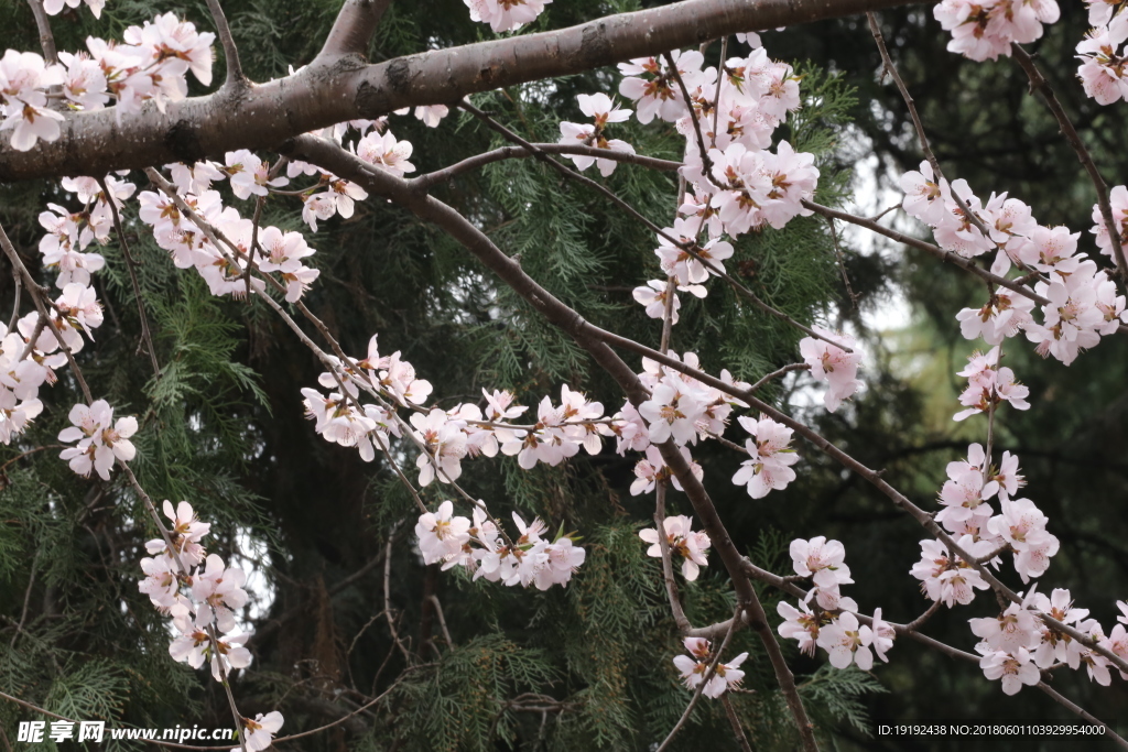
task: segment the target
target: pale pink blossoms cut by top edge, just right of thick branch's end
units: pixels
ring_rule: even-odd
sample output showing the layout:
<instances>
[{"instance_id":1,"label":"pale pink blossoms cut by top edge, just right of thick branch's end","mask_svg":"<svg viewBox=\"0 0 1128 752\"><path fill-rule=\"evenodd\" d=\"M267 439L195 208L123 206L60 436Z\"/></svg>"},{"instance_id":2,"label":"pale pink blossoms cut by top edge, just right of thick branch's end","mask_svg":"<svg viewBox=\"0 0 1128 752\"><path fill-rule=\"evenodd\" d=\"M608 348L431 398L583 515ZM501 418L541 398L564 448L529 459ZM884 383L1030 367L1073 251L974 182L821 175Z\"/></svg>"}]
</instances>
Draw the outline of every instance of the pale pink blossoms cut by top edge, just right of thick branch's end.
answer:
<instances>
[{"instance_id":1,"label":"pale pink blossoms cut by top edge, just right of thick branch's end","mask_svg":"<svg viewBox=\"0 0 1128 752\"><path fill-rule=\"evenodd\" d=\"M981 62L1041 38L1042 24L1056 23L1060 10L1056 0L943 0L933 15L952 33L951 52Z\"/></svg>"}]
</instances>

